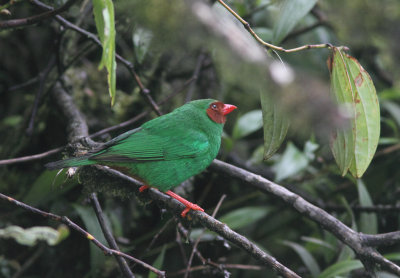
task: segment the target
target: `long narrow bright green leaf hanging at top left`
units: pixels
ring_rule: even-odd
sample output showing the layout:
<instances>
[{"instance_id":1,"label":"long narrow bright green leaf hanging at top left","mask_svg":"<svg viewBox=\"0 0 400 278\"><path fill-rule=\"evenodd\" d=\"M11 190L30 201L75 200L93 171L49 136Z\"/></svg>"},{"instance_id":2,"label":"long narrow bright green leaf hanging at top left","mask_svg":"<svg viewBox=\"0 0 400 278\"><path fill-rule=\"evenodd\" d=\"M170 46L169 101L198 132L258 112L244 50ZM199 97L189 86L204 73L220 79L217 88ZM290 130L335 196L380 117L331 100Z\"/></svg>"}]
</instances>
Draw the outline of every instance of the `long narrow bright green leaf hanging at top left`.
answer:
<instances>
[{"instance_id":1,"label":"long narrow bright green leaf hanging at top left","mask_svg":"<svg viewBox=\"0 0 400 278\"><path fill-rule=\"evenodd\" d=\"M115 103L116 69L114 4L111 0L93 0L97 33L103 46L99 69L106 67L111 105Z\"/></svg>"}]
</instances>

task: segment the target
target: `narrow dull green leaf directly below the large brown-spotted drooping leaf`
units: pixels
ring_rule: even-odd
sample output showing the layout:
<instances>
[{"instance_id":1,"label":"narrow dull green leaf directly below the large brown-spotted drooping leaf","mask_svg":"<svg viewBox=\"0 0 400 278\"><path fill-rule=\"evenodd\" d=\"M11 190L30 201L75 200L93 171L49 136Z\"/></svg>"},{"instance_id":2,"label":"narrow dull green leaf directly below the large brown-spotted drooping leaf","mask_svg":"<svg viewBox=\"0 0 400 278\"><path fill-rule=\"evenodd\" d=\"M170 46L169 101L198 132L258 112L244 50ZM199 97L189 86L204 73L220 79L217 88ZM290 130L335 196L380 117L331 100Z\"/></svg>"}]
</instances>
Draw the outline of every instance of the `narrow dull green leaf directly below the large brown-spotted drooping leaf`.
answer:
<instances>
[{"instance_id":1,"label":"narrow dull green leaf directly below the large brown-spotted drooping leaf","mask_svg":"<svg viewBox=\"0 0 400 278\"><path fill-rule=\"evenodd\" d=\"M365 187L362 180L357 180L357 190L358 190L358 199L360 201L360 205L362 206L373 206L371 196L368 193L367 188ZM378 232L378 219L375 213L361 213L360 217L360 232L366 234L377 234Z\"/></svg>"}]
</instances>

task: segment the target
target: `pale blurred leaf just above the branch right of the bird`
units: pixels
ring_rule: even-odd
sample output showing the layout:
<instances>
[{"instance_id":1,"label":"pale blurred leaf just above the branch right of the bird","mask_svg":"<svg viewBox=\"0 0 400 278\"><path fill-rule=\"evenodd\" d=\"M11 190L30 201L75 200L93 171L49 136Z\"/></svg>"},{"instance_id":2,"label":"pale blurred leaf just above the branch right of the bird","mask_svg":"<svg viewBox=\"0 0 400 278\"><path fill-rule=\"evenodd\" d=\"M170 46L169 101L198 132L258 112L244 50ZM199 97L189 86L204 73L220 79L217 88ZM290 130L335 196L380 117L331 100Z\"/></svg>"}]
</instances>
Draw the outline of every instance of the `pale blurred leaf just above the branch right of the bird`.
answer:
<instances>
[{"instance_id":1,"label":"pale blurred leaf just above the branch right of the bird","mask_svg":"<svg viewBox=\"0 0 400 278\"><path fill-rule=\"evenodd\" d=\"M273 166L276 172L276 181L279 182L294 176L308 166L307 156L304 155L292 142L286 146L281 160Z\"/></svg>"}]
</instances>

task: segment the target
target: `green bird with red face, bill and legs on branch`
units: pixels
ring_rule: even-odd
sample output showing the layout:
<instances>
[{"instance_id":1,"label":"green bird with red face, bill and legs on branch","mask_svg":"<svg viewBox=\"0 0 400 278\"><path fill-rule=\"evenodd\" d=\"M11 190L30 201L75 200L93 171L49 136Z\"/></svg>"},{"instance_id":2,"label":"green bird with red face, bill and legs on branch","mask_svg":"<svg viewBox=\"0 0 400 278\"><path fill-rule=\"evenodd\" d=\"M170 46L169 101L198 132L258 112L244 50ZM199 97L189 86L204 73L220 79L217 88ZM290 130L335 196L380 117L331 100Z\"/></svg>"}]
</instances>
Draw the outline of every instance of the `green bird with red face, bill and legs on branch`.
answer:
<instances>
[{"instance_id":1,"label":"green bird with red face, bill and legs on branch","mask_svg":"<svg viewBox=\"0 0 400 278\"><path fill-rule=\"evenodd\" d=\"M213 99L186 103L171 113L125 132L89 153L51 162L48 169L106 165L142 181L139 190L155 187L183 203L181 216L204 211L170 191L202 172L217 156L226 115L237 107Z\"/></svg>"}]
</instances>

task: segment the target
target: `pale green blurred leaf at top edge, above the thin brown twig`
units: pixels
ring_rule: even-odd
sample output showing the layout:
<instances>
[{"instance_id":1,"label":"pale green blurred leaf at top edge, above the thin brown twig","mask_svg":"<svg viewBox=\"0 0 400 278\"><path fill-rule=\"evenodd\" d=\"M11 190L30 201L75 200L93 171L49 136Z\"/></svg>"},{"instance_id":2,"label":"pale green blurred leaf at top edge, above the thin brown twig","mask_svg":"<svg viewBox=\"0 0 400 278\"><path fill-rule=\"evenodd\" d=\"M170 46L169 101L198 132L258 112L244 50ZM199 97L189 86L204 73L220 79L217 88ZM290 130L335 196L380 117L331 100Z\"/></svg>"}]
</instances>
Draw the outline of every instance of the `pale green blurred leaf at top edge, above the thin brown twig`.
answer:
<instances>
[{"instance_id":1,"label":"pale green blurred leaf at top edge, above the thin brown twig","mask_svg":"<svg viewBox=\"0 0 400 278\"><path fill-rule=\"evenodd\" d=\"M274 26L273 43L279 44L315 6L317 0L283 0L281 1L278 21Z\"/></svg>"}]
</instances>

